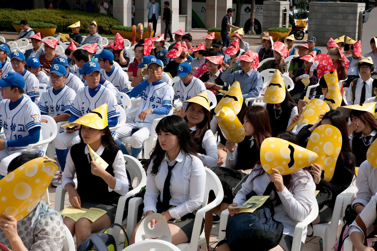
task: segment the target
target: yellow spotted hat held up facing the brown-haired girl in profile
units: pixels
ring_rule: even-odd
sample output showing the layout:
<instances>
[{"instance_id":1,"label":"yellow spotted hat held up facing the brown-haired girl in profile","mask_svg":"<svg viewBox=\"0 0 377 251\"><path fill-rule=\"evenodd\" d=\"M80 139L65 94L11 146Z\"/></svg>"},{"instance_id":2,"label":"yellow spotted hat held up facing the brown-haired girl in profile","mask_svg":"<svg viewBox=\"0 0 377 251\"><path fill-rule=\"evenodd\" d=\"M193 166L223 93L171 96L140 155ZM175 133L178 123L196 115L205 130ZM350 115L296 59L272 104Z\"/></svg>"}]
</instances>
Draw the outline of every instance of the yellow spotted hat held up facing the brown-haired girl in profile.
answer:
<instances>
[{"instance_id":1,"label":"yellow spotted hat held up facing the brown-haired girl in profile","mask_svg":"<svg viewBox=\"0 0 377 251\"><path fill-rule=\"evenodd\" d=\"M222 135L231 142L239 143L245 138L245 129L236 113L227 106L222 107L215 115Z\"/></svg>"}]
</instances>

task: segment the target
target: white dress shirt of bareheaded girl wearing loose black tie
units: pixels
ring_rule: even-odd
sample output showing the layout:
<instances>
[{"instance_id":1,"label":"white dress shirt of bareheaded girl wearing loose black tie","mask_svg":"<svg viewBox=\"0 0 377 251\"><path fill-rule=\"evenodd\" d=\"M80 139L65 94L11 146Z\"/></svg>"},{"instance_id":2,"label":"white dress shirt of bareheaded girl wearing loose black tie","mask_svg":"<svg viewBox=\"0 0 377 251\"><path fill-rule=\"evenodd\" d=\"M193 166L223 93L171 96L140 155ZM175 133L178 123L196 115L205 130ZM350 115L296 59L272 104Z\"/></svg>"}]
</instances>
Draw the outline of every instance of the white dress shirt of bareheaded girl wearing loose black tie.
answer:
<instances>
[{"instance_id":1,"label":"white dress shirt of bareheaded girl wearing loose black tie","mask_svg":"<svg viewBox=\"0 0 377 251\"><path fill-rule=\"evenodd\" d=\"M170 162L165 154L157 174L151 174L153 159L147 171L146 193L144 195L144 214L147 211L157 212L157 198L163 200L164 183L168 167L178 162L172 170L170 178L170 205L176 206L169 210L174 219L181 219L188 213L197 210L203 202L205 190L205 169L202 161L193 155L179 152L177 158Z\"/></svg>"}]
</instances>

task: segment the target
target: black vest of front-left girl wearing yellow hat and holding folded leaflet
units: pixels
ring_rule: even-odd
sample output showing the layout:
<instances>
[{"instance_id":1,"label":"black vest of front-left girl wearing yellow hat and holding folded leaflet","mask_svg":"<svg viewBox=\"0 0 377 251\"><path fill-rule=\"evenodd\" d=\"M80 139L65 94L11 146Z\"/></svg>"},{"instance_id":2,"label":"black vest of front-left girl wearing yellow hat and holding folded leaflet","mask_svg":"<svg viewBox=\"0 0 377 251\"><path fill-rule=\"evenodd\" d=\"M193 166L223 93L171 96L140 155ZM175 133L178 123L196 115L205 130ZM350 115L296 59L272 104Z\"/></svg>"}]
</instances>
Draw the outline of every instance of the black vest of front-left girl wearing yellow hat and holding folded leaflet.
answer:
<instances>
[{"instance_id":1,"label":"black vest of front-left girl wearing yellow hat and holding folded leaflet","mask_svg":"<svg viewBox=\"0 0 377 251\"><path fill-rule=\"evenodd\" d=\"M106 182L98 176L92 174L88 155L84 153L85 144L75 144L72 146L70 155L76 168L77 175L77 193L80 195L81 201L95 202L101 204L117 203L120 194L115 191L109 192ZM106 171L114 176L113 162L120 148L113 145L105 148L101 154L101 158L106 161L109 166Z\"/></svg>"}]
</instances>

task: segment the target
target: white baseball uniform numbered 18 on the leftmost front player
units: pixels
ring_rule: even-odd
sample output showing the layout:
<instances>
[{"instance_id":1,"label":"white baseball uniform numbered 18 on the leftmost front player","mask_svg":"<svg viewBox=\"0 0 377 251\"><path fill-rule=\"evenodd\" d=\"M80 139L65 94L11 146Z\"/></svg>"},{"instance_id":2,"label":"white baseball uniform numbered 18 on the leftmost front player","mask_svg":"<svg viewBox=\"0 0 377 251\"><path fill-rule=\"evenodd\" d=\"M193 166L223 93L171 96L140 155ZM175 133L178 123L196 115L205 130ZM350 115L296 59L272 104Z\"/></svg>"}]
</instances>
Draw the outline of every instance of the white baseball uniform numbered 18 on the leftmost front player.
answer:
<instances>
[{"instance_id":1,"label":"white baseball uniform numbered 18 on the leftmost front player","mask_svg":"<svg viewBox=\"0 0 377 251\"><path fill-rule=\"evenodd\" d=\"M32 73L30 73L33 75ZM35 75L33 75L35 77ZM38 106L31 99L23 98L13 110L9 109L10 99L0 102L0 127L3 127L5 139L20 139L29 135L29 130L41 126L41 113ZM40 140L42 133L40 132ZM0 151L0 174L5 176L8 173L8 165L18 155L26 151L24 147L8 147ZM36 147L33 151L42 154L46 147Z\"/></svg>"}]
</instances>

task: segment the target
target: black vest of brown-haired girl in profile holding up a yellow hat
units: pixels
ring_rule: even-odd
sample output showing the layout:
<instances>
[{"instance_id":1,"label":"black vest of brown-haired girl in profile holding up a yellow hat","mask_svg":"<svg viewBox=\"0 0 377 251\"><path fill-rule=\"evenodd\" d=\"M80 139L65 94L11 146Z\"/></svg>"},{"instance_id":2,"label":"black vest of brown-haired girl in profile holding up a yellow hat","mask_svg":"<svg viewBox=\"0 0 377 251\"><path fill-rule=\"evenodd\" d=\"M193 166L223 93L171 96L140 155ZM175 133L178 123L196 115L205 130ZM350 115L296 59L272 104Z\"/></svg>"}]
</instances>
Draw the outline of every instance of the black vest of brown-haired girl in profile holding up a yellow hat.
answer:
<instances>
[{"instance_id":1,"label":"black vest of brown-haired girl in profile holding up a yellow hat","mask_svg":"<svg viewBox=\"0 0 377 251\"><path fill-rule=\"evenodd\" d=\"M253 168L257 161L261 160L256 141L254 139L254 144L250 147L250 138L251 136L246 136L242 142L238 143L236 170L248 170Z\"/></svg>"}]
</instances>

